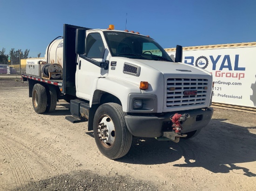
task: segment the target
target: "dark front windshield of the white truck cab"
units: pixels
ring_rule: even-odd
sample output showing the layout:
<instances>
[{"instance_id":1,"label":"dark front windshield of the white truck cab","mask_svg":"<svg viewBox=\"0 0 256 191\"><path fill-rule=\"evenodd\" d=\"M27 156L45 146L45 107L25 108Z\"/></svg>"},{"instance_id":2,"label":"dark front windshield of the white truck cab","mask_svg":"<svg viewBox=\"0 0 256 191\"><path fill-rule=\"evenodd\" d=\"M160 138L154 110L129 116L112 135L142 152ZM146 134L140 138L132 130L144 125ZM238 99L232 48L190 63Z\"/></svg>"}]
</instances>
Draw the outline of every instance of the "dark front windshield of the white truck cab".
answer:
<instances>
[{"instance_id":1,"label":"dark front windshield of the white truck cab","mask_svg":"<svg viewBox=\"0 0 256 191\"><path fill-rule=\"evenodd\" d=\"M152 38L128 32L105 31L104 35L113 57L173 62L166 51Z\"/></svg>"}]
</instances>

